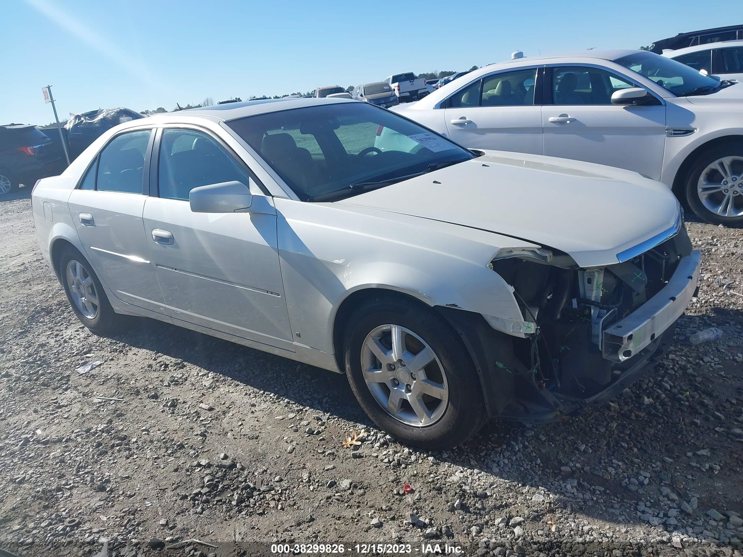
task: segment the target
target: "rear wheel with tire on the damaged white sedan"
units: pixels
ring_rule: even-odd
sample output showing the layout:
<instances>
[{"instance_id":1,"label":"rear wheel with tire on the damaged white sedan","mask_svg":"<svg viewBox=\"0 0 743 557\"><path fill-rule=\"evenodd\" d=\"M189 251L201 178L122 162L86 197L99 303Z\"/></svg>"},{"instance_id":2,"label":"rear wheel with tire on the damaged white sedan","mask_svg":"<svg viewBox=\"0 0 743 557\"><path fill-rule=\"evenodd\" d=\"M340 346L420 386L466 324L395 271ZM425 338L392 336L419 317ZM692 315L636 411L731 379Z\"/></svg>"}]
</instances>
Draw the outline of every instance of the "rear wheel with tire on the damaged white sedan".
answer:
<instances>
[{"instance_id":1,"label":"rear wheel with tire on the damaged white sedan","mask_svg":"<svg viewBox=\"0 0 743 557\"><path fill-rule=\"evenodd\" d=\"M106 291L87 259L68 245L59 256L59 280L77 319L93 333L109 336L126 325L126 316L114 312Z\"/></svg>"}]
</instances>

